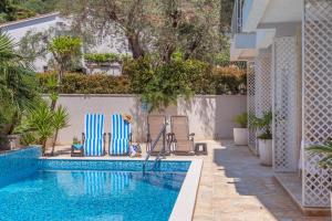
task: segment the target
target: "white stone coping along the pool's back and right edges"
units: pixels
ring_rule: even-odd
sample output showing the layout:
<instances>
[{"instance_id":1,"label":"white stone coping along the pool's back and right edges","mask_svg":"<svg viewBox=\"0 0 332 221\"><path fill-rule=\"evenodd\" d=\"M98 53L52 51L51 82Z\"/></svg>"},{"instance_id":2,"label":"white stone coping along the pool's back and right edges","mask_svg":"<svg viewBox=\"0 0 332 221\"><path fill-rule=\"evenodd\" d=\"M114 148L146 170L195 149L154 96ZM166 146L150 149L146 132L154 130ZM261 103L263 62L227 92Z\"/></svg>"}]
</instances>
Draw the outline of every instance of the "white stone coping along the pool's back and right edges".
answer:
<instances>
[{"instance_id":1,"label":"white stone coping along the pool's back and right edges","mask_svg":"<svg viewBox=\"0 0 332 221\"><path fill-rule=\"evenodd\" d=\"M144 160L142 158L124 158L124 157L114 157L114 158L93 158L93 157L40 157L39 159L55 159L55 160ZM151 160L153 160L152 157ZM176 202L169 215L172 221L190 221L193 220L196 196L198 192L200 173L203 168L203 159L193 159L189 157L186 158L173 158L163 159L163 161L190 161L189 169L187 171L186 178L183 182L181 189L177 196Z\"/></svg>"}]
</instances>

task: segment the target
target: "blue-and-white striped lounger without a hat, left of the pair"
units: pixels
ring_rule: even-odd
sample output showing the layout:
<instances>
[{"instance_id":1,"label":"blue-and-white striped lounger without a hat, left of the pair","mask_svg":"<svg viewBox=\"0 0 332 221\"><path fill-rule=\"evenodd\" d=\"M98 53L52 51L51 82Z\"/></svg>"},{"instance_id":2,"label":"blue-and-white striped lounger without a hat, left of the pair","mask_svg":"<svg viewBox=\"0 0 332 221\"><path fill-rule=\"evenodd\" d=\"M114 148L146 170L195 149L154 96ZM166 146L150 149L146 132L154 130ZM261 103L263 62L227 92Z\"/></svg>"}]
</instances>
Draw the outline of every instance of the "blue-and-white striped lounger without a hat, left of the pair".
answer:
<instances>
[{"instance_id":1,"label":"blue-and-white striped lounger without a hat, left of the pair","mask_svg":"<svg viewBox=\"0 0 332 221\"><path fill-rule=\"evenodd\" d=\"M105 154L104 115L86 114L84 119L84 156L103 156Z\"/></svg>"}]
</instances>

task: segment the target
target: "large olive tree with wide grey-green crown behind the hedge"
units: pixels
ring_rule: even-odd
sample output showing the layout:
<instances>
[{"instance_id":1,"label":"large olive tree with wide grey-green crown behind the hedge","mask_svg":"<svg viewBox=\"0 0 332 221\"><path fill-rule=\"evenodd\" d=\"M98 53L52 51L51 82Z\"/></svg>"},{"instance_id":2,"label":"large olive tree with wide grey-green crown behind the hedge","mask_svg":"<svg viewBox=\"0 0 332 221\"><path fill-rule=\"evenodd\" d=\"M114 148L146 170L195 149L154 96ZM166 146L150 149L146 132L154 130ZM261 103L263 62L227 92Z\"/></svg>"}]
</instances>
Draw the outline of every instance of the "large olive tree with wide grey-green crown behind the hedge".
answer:
<instances>
[{"instance_id":1,"label":"large olive tree with wide grey-green crown behind the hedge","mask_svg":"<svg viewBox=\"0 0 332 221\"><path fill-rule=\"evenodd\" d=\"M123 34L135 60L169 63L177 50L185 60L210 60L228 41L220 38L220 0L62 0L60 8L82 33Z\"/></svg>"}]
</instances>

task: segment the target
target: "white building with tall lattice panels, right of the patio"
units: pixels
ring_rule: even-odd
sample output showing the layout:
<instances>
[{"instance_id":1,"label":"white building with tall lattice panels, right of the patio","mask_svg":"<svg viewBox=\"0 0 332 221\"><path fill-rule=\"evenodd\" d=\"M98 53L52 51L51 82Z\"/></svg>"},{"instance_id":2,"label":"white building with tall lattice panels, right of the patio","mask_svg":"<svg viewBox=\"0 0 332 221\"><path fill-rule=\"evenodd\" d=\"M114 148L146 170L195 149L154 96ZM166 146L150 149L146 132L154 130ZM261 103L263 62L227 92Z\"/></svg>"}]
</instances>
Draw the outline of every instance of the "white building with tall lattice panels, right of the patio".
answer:
<instances>
[{"instance_id":1,"label":"white building with tall lattice panels, right of the patio","mask_svg":"<svg viewBox=\"0 0 332 221\"><path fill-rule=\"evenodd\" d=\"M332 1L236 0L232 32L231 59L248 62L248 112L274 116L277 179L304 213L330 215L332 171L305 148L332 138Z\"/></svg>"}]
</instances>

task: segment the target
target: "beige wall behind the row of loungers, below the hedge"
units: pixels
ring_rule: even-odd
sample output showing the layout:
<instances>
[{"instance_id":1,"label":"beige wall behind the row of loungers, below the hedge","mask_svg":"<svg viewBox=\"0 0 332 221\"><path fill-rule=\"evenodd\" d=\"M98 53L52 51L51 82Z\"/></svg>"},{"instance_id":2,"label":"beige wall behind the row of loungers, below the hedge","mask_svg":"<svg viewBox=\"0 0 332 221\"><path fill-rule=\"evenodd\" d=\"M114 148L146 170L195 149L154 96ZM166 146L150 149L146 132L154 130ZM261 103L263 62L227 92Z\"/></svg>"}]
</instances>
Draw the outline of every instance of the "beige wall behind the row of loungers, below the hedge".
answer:
<instances>
[{"instance_id":1,"label":"beige wall behind the row of loungers, below the hedge","mask_svg":"<svg viewBox=\"0 0 332 221\"><path fill-rule=\"evenodd\" d=\"M113 113L128 113L134 117L133 139L146 139L146 116L139 98L134 95L61 95L58 104L70 113L70 126L60 131L59 144L71 144L73 137L81 139L86 113L105 114L105 131L111 130ZM235 126L235 115L247 110L247 99L243 95L198 95L189 102L178 101L162 113L170 115L187 115L190 133L196 139L230 138ZM156 114L156 113L154 113Z\"/></svg>"}]
</instances>

